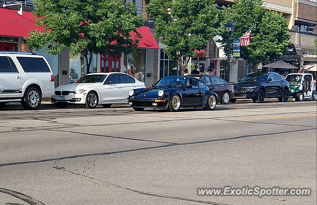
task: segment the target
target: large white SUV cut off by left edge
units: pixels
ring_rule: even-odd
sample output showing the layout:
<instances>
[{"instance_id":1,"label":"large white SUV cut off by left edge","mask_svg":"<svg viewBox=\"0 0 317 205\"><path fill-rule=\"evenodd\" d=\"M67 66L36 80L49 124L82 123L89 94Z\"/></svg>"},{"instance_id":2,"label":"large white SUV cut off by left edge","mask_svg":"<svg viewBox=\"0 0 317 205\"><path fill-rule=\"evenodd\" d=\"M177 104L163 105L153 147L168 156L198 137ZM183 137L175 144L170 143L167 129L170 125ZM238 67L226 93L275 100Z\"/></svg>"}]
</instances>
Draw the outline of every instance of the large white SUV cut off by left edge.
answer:
<instances>
[{"instance_id":1,"label":"large white SUV cut off by left edge","mask_svg":"<svg viewBox=\"0 0 317 205\"><path fill-rule=\"evenodd\" d=\"M8 102L21 102L36 110L42 97L54 94L54 75L43 56L0 52L0 109Z\"/></svg>"}]
</instances>

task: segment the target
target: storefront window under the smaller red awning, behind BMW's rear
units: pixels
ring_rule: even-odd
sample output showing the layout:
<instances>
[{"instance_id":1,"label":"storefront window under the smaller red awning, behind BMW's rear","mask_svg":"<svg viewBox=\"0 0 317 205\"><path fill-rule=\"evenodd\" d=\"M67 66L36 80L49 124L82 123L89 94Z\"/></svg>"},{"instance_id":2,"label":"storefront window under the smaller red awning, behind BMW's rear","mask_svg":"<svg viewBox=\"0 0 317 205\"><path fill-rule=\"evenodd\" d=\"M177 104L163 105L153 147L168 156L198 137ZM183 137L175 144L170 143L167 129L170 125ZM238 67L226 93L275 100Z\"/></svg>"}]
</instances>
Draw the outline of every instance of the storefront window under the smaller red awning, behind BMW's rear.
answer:
<instances>
[{"instance_id":1,"label":"storefront window under the smaller red awning, behind BMW's rear","mask_svg":"<svg viewBox=\"0 0 317 205\"><path fill-rule=\"evenodd\" d=\"M136 49L131 54L124 55L124 72L141 82L145 82L146 77L146 53L146 49Z\"/></svg>"}]
</instances>

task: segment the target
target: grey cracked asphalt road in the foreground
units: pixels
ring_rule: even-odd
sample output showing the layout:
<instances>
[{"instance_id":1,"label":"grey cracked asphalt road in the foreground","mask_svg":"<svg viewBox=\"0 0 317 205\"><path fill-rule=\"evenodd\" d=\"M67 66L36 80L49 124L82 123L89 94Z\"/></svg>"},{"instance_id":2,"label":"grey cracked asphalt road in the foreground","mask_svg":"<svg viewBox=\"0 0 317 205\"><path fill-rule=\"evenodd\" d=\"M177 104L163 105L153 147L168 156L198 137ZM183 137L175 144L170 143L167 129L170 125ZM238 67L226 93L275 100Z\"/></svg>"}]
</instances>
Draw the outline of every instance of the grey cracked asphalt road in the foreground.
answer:
<instances>
[{"instance_id":1,"label":"grey cracked asphalt road in the foreground","mask_svg":"<svg viewBox=\"0 0 317 205\"><path fill-rule=\"evenodd\" d=\"M316 205L317 104L0 111L0 205ZM307 187L310 197L197 188ZM273 198L273 199L272 199Z\"/></svg>"}]
</instances>

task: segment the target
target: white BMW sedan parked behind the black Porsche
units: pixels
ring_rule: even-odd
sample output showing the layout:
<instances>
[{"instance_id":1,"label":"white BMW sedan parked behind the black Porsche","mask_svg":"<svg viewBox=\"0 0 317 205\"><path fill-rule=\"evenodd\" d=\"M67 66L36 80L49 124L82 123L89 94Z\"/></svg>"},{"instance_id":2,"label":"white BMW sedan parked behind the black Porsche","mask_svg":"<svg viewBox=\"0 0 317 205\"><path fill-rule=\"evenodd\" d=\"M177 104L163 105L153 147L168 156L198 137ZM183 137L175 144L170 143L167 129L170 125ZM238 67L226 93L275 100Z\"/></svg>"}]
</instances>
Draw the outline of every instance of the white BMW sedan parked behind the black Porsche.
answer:
<instances>
[{"instance_id":1,"label":"white BMW sedan parked behind the black Porsche","mask_svg":"<svg viewBox=\"0 0 317 205\"><path fill-rule=\"evenodd\" d=\"M110 107L114 103L126 103L131 89L145 88L144 82L121 72L87 74L77 82L55 88L51 97L57 108L68 104L84 104L95 108L98 104Z\"/></svg>"}]
</instances>

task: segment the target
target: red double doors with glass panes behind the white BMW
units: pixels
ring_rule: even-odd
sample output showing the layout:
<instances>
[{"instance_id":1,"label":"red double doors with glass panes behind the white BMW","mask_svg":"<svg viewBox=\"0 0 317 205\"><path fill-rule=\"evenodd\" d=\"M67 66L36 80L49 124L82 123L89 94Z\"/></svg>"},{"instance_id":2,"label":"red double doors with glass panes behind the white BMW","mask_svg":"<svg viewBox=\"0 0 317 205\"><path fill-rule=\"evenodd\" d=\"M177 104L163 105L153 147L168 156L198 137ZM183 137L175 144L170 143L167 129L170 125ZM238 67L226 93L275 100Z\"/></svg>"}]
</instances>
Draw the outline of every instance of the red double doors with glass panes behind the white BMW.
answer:
<instances>
[{"instance_id":1,"label":"red double doors with glass panes behind the white BMW","mask_svg":"<svg viewBox=\"0 0 317 205\"><path fill-rule=\"evenodd\" d=\"M100 56L100 72L120 72L120 59L114 52L105 52Z\"/></svg>"}]
</instances>

